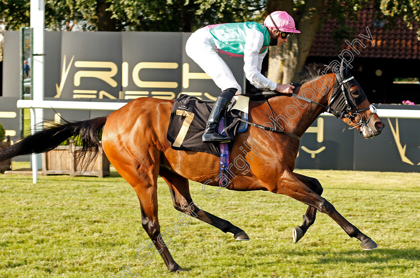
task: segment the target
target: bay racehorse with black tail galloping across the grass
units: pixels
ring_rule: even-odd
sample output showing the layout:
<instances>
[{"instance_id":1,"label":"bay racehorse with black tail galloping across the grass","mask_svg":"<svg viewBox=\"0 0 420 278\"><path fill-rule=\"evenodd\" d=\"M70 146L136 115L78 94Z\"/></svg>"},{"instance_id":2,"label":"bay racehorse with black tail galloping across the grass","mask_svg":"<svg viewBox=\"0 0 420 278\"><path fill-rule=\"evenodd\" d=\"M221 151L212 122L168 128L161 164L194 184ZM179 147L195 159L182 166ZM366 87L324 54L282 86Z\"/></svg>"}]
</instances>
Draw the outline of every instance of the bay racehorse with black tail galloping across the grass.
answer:
<instances>
[{"instance_id":1,"label":"bay racehorse with black tail galloping across the grass","mask_svg":"<svg viewBox=\"0 0 420 278\"><path fill-rule=\"evenodd\" d=\"M339 67L339 68L338 68ZM268 190L284 194L308 205L303 223L293 229L297 242L315 221L316 211L330 216L350 237L360 240L360 246L374 249L376 243L341 216L321 197L322 187L315 178L293 172L299 140L305 130L324 111L341 118L357 128L363 137L380 134L384 125L367 101L363 90L349 75L346 65L333 69L325 65L307 66L300 74L293 95L278 94L267 101L249 103L248 121L269 126L248 126L239 133L230 157L242 157L249 165L244 171L229 167L229 190ZM157 219L157 178L161 176L169 186L175 209L193 215L223 232L230 232L238 240L249 240L247 234L229 221L199 209L192 201L188 180L218 186L219 158L211 154L173 150L166 138L173 100L140 98L132 100L117 111L95 119L50 123L16 144L0 151L0 161L17 155L40 153L55 148L67 138L80 135L81 155L102 147L110 163L133 187L141 210L141 224L157 250L161 250L170 271L183 270L172 258L160 234ZM275 132L283 130L285 133ZM297 139L296 139L297 138ZM257 146L245 150L242 143ZM243 157L242 154L249 156ZM252 159L250 159L252 157ZM243 165L243 164L242 164ZM159 238L158 238L159 237Z\"/></svg>"}]
</instances>

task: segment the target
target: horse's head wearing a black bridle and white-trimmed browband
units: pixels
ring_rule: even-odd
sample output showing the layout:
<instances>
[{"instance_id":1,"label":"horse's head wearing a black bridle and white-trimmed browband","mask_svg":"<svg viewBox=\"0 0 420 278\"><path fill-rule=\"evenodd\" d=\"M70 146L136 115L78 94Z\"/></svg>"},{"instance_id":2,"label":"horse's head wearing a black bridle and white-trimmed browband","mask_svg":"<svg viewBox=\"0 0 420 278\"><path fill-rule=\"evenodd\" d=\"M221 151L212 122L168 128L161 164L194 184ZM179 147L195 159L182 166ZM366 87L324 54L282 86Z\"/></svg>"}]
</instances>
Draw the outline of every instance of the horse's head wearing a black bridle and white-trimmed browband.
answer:
<instances>
[{"instance_id":1,"label":"horse's head wearing a black bridle and white-trimmed browband","mask_svg":"<svg viewBox=\"0 0 420 278\"><path fill-rule=\"evenodd\" d=\"M350 127L357 128L364 138L379 135L384 124L369 103L360 85L347 70L347 64L332 69L336 76L334 90L329 101L331 110L341 112L338 116Z\"/></svg>"}]
</instances>

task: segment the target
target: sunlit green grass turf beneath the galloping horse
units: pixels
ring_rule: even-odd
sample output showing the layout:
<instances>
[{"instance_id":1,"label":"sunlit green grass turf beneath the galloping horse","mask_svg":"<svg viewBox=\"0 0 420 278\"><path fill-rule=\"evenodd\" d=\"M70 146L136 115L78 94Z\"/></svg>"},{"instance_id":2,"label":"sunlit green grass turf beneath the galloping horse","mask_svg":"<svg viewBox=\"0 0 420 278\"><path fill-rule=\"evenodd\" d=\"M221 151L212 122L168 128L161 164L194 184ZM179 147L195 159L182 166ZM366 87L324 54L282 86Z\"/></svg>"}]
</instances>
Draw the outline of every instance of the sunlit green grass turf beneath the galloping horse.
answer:
<instances>
[{"instance_id":1,"label":"sunlit green grass turf beneath the galloping horse","mask_svg":"<svg viewBox=\"0 0 420 278\"><path fill-rule=\"evenodd\" d=\"M379 247L363 251L357 239L319 212L294 244L292 229L301 224L306 205L262 191L222 190L209 199L194 182L194 201L251 240L236 241L197 219L181 226L159 178L161 231L177 223L168 248L188 270L170 273L156 252L147 266L136 258L135 251L150 239L134 190L116 172L102 179L40 176L35 185L31 176L0 174L0 277L130 277L123 270L128 265L137 277L420 276L420 174L296 172L316 177L322 196Z\"/></svg>"}]
</instances>

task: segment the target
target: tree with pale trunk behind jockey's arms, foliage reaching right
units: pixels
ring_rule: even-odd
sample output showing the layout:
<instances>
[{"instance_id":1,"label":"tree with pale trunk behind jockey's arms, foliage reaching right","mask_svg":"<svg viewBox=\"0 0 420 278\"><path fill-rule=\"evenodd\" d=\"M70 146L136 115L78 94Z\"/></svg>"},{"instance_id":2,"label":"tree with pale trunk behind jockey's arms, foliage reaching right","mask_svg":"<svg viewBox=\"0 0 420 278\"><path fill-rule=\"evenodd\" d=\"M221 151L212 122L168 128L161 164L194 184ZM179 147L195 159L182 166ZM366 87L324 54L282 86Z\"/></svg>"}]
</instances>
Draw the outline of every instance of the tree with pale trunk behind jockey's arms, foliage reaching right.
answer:
<instances>
[{"instance_id":1,"label":"tree with pale trunk behind jockey's arms, foliage reaching right","mask_svg":"<svg viewBox=\"0 0 420 278\"><path fill-rule=\"evenodd\" d=\"M293 74L301 70L323 20L340 23L336 34L346 37L350 31L346 20L356 19L357 13L370 5L374 8L373 18L387 22L388 27L398 19L409 28L415 26L420 40L420 0L267 0L264 17L273 11L285 11L294 19L296 29L304 31L289 37L287 44L270 48L268 78L289 83ZM329 17L321 18L321 13Z\"/></svg>"}]
</instances>

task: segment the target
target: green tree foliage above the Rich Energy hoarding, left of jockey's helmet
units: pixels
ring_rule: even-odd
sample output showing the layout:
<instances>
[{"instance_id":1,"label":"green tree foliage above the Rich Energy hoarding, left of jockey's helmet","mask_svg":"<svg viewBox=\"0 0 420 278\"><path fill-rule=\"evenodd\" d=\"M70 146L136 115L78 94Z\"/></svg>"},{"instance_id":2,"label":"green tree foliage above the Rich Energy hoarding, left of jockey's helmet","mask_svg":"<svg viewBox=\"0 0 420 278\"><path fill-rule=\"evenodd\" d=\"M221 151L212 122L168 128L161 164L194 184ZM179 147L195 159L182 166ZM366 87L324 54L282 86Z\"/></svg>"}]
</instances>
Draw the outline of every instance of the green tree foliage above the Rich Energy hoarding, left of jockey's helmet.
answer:
<instances>
[{"instance_id":1,"label":"green tree foliage above the Rich Energy hoarding, left of jockey's helmet","mask_svg":"<svg viewBox=\"0 0 420 278\"><path fill-rule=\"evenodd\" d=\"M191 32L250 19L266 0L44 0L49 30ZM29 26L30 2L1 0L6 30Z\"/></svg>"}]
</instances>

